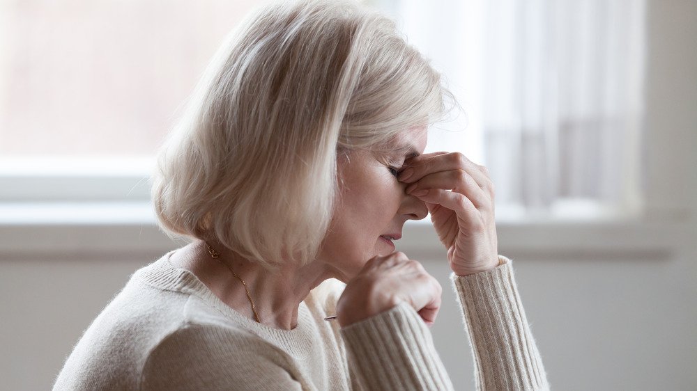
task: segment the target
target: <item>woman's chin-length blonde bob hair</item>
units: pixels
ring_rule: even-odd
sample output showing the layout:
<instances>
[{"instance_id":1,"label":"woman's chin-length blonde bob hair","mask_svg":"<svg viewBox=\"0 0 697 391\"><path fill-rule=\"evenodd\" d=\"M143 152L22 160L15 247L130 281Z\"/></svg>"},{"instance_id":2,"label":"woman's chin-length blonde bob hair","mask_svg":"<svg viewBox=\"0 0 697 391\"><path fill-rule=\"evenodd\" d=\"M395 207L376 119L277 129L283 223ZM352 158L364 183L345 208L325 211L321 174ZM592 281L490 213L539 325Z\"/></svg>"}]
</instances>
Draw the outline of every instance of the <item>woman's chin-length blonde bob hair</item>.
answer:
<instances>
[{"instance_id":1,"label":"woman's chin-length blonde bob hair","mask_svg":"<svg viewBox=\"0 0 697 391\"><path fill-rule=\"evenodd\" d=\"M270 269L314 260L337 154L427 125L444 94L393 22L358 3L263 8L220 48L160 151L160 225Z\"/></svg>"}]
</instances>

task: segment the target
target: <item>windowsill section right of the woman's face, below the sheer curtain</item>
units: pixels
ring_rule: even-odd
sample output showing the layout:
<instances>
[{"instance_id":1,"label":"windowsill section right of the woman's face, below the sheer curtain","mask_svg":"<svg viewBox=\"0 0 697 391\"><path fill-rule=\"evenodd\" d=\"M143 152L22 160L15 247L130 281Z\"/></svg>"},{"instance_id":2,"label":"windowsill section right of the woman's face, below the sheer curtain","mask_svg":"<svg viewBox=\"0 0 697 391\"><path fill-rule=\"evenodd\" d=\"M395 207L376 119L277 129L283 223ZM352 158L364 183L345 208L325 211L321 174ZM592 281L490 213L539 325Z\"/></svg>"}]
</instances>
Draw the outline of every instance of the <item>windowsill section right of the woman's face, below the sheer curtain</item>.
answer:
<instances>
[{"instance_id":1,"label":"windowsill section right of the woman's face, below the sheer curtain","mask_svg":"<svg viewBox=\"0 0 697 391\"><path fill-rule=\"evenodd\" d=\"M498 250L511 258L534 260L668 260L684 243L686 223L638 220L536 220L499 218ZM397 248L415 257L440 254L430 224L405 227Z\"/></svg>"}]
</instances>

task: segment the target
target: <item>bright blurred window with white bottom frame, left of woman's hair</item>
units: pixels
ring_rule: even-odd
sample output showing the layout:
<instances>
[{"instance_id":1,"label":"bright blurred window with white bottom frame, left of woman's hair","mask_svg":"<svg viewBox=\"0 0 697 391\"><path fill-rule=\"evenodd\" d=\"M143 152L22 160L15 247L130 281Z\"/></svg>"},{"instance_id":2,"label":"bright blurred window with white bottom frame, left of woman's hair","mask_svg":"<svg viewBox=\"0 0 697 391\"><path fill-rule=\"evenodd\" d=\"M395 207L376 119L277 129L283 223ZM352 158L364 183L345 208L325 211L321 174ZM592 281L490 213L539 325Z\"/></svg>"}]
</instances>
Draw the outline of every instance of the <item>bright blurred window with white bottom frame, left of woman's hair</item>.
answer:
<instances>
[{"instance_id":1,"label":"bright blurred window with white bottom frame, left of woman's hair","mask_svg":"<svg viewBox=\"0 0 697 391\"><path fill-rule=\"evenodd\" d=\"M155 151L257 5L0 1L0 223L152 222Z\"/></svg>"}]
</instances>

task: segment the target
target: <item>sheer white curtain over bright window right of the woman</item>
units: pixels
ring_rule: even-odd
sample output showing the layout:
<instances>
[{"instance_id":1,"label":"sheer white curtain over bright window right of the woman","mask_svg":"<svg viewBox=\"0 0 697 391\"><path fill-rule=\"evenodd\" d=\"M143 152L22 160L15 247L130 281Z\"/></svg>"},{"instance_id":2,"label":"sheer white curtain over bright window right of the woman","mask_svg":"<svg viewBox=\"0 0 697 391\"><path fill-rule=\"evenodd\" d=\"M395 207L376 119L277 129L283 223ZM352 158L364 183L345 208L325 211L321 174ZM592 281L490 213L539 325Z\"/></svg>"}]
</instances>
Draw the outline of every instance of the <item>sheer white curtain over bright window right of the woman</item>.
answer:
<instances>
[{"instance_id":1,"label":"sheer white curtain over bright window right of the woman","mask_svg":"<svg viewBox=\"0 0 697 391\"><path fill-rule=\"evenodd\" d=\"M643 0L374 3L447 75L464 115L432 144L487 165L500 211L638 210Z\"/></svg>"}]
</instances>

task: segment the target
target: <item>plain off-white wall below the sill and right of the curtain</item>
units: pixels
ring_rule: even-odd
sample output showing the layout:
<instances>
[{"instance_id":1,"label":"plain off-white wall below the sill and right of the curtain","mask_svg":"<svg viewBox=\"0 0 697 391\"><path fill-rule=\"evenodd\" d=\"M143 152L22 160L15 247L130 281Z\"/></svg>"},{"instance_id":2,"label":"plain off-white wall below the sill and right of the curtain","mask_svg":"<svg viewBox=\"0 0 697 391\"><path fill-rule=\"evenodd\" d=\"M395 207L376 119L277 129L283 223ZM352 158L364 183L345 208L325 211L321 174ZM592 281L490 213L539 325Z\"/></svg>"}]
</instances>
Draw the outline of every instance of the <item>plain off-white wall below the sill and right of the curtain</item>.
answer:
<instances>
[{"instance_id":1,"label":"plain off-white wall below the sill and right of the curtain","mask_svg":"<svg viewBox=\"0 0 697 391\"><path fill-rule=\"evenodd\" d=\"M526 231L502 232L500 250L514 257L528 320L556 390L697 388L697 1L648 5L648 201L652 221L679 228L672 247L550 253L539 246L520 253L506 243L525 242ZM66 232L71 237L70 228ZM643 248L641 238L631 240ZM61 254L0 254L1 389L49 388L82 330L128 276L160 252ZM425 264L447 285L442 258ZM473 389L468 343L452 294L445 293L451 297L433 328L436 344L458 388Z\"/></svg>"}]
</instances>

